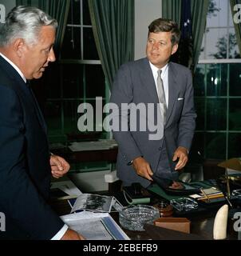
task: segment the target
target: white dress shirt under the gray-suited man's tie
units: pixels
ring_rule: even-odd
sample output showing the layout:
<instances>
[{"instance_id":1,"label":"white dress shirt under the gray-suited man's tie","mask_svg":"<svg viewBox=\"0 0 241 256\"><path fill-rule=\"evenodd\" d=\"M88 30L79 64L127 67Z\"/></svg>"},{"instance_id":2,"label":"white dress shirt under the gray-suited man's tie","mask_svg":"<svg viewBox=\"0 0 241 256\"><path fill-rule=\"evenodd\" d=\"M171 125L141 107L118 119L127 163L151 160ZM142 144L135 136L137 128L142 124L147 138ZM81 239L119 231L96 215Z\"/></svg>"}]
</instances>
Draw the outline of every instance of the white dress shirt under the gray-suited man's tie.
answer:
<instances>
[{"instance_id":1,"label":"white dress shirt under the gray-suited man's tie","mask_svg":"<svg viewBox=\"0 0 241 256\"><path fill-rule=\"evenodd\" d=\"M151 62L150 63L150 66L151 66L151 69L152 69L152 74L153 74L153 78L154 78L154 81L155 81L155 85L156 85L156 93L158 94L158 90L157 90L157 83L156 83L156 80L157 80L157 71L160 70L158 67L154 66ZM164 66L162 69L162 72L161 72L161 79L163 81L163 86L164 86L164 94L165 94L165 99L166 99L166 103L167 103L167 108L168 108L168 95L169 95L169 90L168 90L168 64L166 66Z\"/></svg>"}]
</instances>

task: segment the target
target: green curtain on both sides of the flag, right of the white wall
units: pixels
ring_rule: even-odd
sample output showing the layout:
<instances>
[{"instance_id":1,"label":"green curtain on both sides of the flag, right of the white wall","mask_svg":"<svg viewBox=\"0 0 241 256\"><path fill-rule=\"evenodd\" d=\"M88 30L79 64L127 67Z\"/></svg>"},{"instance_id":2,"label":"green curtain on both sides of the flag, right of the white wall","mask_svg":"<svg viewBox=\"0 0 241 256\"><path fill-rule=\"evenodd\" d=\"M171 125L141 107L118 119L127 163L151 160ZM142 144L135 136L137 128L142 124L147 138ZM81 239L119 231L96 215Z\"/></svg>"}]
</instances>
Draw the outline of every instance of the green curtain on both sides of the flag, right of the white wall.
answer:
<instances>
[{"instance_id":1,"label":"green curtain on both sides of the flag, right of the white wall","mask_svg":"<svg viewBox=\"0 0 241 256\"><path fill-rule=\"evenodd\" d=\"M237 0L241 1L241 0ZM182 0L162 0L162 17L176 21L180 26ZM205 32L209 0L191 0L194 70L199 60L200 48Z\"/></svg>"}]
</instances>

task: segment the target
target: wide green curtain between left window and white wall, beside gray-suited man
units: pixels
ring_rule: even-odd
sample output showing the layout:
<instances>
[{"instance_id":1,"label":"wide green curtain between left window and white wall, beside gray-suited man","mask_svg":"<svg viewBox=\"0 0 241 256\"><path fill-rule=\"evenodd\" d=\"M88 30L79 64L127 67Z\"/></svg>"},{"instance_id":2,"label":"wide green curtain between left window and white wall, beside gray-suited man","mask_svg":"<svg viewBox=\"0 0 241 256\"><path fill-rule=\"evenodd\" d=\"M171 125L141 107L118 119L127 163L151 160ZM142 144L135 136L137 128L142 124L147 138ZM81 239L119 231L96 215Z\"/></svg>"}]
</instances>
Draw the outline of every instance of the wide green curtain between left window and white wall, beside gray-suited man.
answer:
<instances>
[{"instance_id":1,"label":"wide green curtain between left window and white wall, beside gray-suited man","mask_svg":"<svg viewBox=\"0 0 241 256\"><path fill-rule=\"evenodd\" d=\"M93 34L109 86L124 62L134 59L134 0L89 0Z\"/></svg>"}]
</instances>

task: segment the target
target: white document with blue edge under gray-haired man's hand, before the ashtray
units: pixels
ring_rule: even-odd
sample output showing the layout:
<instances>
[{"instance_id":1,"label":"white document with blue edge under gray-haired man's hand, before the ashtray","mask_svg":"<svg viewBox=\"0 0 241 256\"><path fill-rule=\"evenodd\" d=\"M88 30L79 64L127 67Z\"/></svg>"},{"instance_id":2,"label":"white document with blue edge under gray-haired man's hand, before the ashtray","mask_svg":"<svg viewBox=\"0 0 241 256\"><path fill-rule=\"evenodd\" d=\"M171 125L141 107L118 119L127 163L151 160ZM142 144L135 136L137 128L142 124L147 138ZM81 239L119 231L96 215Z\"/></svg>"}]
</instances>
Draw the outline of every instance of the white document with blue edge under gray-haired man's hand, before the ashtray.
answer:
<instances>
[{"instance_id":1,"label":"white document with blue edge under gray-haired man's hand, before the ashtray","mask_svg":"<svg viewBox=\"0 0 241 256\"><path fill-rule=\"evenodd\" d=\"M129 240L109 214L83 211L63 215L61 219L88 240Z\"/></svg>"}]
</instances>

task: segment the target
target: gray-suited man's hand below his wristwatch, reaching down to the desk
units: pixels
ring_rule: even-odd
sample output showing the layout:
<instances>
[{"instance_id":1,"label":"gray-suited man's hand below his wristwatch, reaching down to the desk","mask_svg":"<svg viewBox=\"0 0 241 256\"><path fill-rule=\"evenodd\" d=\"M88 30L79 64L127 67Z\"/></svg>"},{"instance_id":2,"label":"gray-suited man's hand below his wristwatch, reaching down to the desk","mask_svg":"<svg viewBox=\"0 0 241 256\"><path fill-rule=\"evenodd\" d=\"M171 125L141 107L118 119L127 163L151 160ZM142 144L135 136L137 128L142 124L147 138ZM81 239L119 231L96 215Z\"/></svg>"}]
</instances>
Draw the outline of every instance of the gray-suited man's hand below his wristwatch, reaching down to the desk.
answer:
<instances>
[{"instance_id":1,"label":"gray-suited man's hand below his wristwatch, reaching down to the desk","mask_svg":"<svg viewBox=\"0 0 241 256\"><path fill-rule=\"evenodd\" d=\"M143 178L147 178L152 181L152 169L150 164L144 158L135 158L132 163L133 168L136 170L136 174Z\"/></svg>"}]
</instances>

